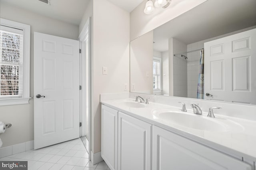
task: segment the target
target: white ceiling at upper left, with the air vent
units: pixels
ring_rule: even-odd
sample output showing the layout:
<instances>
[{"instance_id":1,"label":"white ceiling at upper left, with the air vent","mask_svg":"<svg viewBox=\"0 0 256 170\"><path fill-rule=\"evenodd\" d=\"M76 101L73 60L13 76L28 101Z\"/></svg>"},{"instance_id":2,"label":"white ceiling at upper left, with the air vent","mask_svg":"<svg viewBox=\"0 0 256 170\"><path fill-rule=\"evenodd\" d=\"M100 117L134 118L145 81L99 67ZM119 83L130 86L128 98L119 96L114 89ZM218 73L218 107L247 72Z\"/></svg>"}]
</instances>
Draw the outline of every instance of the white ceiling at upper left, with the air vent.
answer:
<instances>
[{"instance_id":1,"label":"white ceiling at upper left, with the air vent","mask_svg":"<svg viewBox=\"0 0 256 170\"><path fill-rule=\"evenodd\" d=\"M79 25L89 0L50 0L50 5L39 0L1 0L37 14Z\"/></svg>"}]
</instances>

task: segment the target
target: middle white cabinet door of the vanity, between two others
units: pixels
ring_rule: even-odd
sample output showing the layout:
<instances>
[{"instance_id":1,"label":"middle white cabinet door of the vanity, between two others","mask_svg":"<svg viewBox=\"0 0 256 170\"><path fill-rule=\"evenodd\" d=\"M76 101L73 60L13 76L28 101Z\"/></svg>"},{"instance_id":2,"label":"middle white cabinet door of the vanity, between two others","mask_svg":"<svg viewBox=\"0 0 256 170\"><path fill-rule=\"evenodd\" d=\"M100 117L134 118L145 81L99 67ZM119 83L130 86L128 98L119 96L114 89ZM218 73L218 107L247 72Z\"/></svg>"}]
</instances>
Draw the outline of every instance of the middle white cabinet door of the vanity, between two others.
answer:
<instances>
[{"instance_id":1,"label":"middle white cabinet door of the vanity, between two others","mask_svg":"<svg viewBox=\"0 0 256 170\"><path fill-rule=\"evenodd\" d=\"M151 125L118 113L118 170L150 170Z\"/></svg>"}]
</instances>

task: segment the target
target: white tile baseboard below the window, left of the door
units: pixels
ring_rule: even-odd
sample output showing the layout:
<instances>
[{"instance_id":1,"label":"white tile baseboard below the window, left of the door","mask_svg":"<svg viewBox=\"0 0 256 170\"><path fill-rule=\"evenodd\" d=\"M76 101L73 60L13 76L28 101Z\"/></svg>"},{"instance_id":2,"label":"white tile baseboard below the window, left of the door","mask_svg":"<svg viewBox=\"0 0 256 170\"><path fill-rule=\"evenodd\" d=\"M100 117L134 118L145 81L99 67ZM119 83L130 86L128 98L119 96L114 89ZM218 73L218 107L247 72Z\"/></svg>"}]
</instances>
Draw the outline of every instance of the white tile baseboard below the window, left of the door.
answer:
<instances>
[{"instance_id":1,"label":"white tile baseboard below the window, left of the door","mask_svg":"<svg viewBox=\"0 0 256 170\"><path fill-rule=\"evenodd\" d=\"M0 158L34 149L34 140L0 148Z\"/></svg>"}]
</instances>

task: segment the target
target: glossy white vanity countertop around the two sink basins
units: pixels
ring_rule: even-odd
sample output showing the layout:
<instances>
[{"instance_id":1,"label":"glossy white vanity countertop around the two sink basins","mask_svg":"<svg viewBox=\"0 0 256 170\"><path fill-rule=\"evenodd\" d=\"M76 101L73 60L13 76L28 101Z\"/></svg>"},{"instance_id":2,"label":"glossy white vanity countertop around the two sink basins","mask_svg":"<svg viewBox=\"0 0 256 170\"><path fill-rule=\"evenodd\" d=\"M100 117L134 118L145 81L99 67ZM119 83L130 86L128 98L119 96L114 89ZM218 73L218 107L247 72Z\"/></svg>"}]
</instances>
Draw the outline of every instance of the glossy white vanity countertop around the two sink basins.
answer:
<instances>
[{"instance_id":1,"label":"glossy white vanity countertop around the two sink basins","mask_svg":"<svg viewBox=\"0 0 256 170\"><path fill-rule=\"evenodd\" d=\"M157 125L159 127L175 132L186 138L190 138L196 142L200 142L206 146L235 156L241 159L241 157L250 159L250 161L256 161L256 121L250 121L246 119L239 119L235 117L228 117L224 115L215 115L215 118L207 117L208 113L202 115L195 115L192 109L188 109L186 114L192 114L195 116L203 116L206 119L214 119L214 121L221 121L223 123L230 122L235 124L234 129L228 129L226 131L207 131L198 130L194 128L188 128L181 125L171 123L169 121L159 119L153 115L153 111L157 109L172 109L180 111L181 107L172 107L170 105L162 105L159 103L152 103L145 105L144 108L132 108L120 105L122 101L135 102L134 99L114 99L114 100L104 100L101 101L102 104L112 107L118 111L136 117L138 119L144 120L152 125Z\"/></svg>"}]
</instances>

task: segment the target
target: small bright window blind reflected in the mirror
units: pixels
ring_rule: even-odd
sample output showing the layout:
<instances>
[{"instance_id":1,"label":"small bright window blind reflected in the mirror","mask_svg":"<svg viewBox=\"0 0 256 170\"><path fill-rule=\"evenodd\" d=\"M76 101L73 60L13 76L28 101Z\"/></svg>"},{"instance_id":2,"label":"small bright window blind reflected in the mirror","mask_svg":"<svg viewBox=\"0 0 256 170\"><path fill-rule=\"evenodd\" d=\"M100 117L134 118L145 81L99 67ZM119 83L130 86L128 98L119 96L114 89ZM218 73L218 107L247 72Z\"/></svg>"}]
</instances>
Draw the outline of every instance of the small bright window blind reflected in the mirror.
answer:
<instances>
[{"instance_id":1,"label":"small bright window blind reflected in the mirror","mask_svg":"<svg viewBox=\"0 0 256 170\"><path fill-rule=\"evenodd\" d=\"M153 59L153 89L161 89L161 71L160 71L160 61Z\"/></svg>"}]
</instances>

